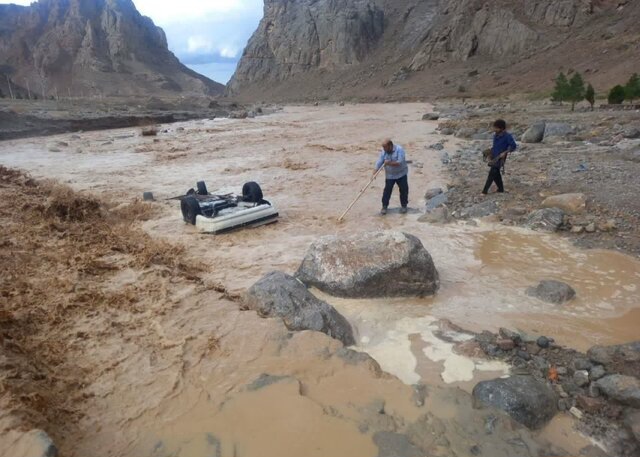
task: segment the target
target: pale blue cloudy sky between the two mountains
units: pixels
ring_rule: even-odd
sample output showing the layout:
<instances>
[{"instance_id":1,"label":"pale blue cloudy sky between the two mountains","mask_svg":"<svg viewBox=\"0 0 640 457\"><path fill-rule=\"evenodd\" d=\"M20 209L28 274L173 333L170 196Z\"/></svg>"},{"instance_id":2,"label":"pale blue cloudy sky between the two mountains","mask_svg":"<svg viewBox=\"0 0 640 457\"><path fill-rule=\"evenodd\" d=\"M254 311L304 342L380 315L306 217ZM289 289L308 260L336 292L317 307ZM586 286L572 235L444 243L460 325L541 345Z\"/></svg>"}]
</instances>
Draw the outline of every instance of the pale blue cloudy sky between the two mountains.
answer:
<instances>
[{"instance_id":1,"label":"pale blue cloudy sky between the two mountains","mask_svg":"<svg viewBox=\"0 0 640 457\"><path fill-rule=\"evenodd\" d=\"M133 0L167 33L169 48L187 66L218 82L233 74L262 18L263 0ZM29 5L31 0L0 0Z\"/></svg>"}]
</instances>

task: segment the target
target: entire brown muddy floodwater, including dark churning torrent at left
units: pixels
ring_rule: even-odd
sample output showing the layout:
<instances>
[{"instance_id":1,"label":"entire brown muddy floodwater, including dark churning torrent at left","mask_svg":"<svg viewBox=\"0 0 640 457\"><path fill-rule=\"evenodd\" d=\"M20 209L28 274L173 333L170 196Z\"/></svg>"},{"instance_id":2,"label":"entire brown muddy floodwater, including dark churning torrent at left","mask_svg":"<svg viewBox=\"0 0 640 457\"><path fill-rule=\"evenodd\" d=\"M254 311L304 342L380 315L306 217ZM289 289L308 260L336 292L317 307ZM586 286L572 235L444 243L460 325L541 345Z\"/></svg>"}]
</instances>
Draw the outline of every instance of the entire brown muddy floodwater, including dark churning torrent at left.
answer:
<instances>
[{"instance_id":1,"label":"entire brown muddy floodwater, including dark churning torrent at left","mask_svg":"<svg viewBox=\"0 0 640 457\"><path fill-rule=\"evenodd\" d=\"M442 365L425 356L426 343L414 338L426 331L426 318L447 317L475 330L519 327L582 349L636 337L636 260L579 251L549 235L490 223L436 227L417 222L424 190L446 184L438 156L426 148L437 138L436 124L420 121L426 109L417 104L291 107L255 120L172 125L156 139L125 129L0 144L0 163L56 178L79 195L90 191L104 200L73 197L72 202L79 198L100 208L90 206L80 211L83 217L74 218L65 216L74 211L56 212L58 191L47 190L54 188L32 193L19 177L2 188L3 220L11 221L3 239L15 240L3 245L3 267L23 252L21 277L42 279L33 284L30 279L17 292L3 295L10 321L26 320L34 325L30 334L37 335L22 341L24 327L12 327L18 335L12 338L26 348L16 350L16 357L25 367L41 364L37 372L50 370L46 382L56 386L36 383L47 395L31 403L21 398L16 404L27 411L23 419L45 427L65 455L96 455L104 449L105 455L142 455L158 442L166 447L160 455L198 455L213 430L225 446L238 443L246 455L259 455L258 449L261 455L300 455L313 443L321 449L318 455L375 455L374 432L405 431L400 423L414 423L423 414L444 421L441 435L451 442L461 439L456 432L460 423L474 430L474 421L481 422L463 407L454 412L435 408L458 394L437 375ZM413 160L414 211L406 217L377 216L378 182L347 222L337 225L335 218L370 176L377 145L387 136L397 139ZM454 148L453 140L446 147ZM182 224L176 202L161 200L203 178L210 190L222 191L260 182L266 198L279 206L281 222L223 237L196 234ZM158 203L133 203L148 190ZM71 196L64 192L65 198ZM27 202L24 211L15 211L10 196L16 194L29 194L19 199ZM137 221L150 236L136 228ZM421 238L443 278L441 293L430 300L331 302L354 325L360 349L383 369L403 380L418 376L442 386L434 388L438 393L426 410L415 406L410 387L381 374L375 364L349 362L339 344L324 335L290 336L275 320L240 312L223 291L240 293L272 269L293 271L317 236L391 228ZM52 252L62 255L44 256ZM569 308L541 305L524 295L527 286L549 275L578 290ZM36 305L33 313L41 321L21 315L32 309L27 304ZM39 340L41 335L46 341ZM42 351L50 339L59 342L58 348ZM262 373L291 380L263 394L247 393L246 385ZM34 390L30 383L35 381L11 389L20 397L21 389ZM464 382L456 385L469 388ZM270 396L278 401L270 403ZM379 415L371 409L377 398L386 400L393 426L371 423ZM225 403L232 406L223 408ZM247 423L247 410L272 414L251 416L255 423ZM46 414L36 417L34 411ZM211 416L211 411L216 413ZM317 427L296 428L291 418L298 414ZM240 425L229 425L240 423L255 439L239 435ZM370 424L364 435L356 425L363 423ZM293 440L284 440L287 446L269 440L285 430ZM569 443L561 443L565 449L579 447L579 438L570 436ZM336 443L344 447L330 447ZM232 451L226 447L224 455ZM508 449L504 452L509 455ZM433 455L440 454L434 450Z\"/></svg>"}]
</instances>

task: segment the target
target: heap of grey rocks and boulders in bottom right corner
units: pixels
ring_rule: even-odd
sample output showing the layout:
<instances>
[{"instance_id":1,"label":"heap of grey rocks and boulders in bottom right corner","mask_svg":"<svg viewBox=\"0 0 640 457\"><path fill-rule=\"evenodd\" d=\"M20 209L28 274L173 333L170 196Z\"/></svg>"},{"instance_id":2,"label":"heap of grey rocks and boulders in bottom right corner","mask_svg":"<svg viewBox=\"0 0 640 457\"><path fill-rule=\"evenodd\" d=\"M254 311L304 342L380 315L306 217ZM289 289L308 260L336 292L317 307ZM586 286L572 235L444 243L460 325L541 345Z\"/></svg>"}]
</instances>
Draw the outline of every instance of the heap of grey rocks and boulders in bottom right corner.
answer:
<instances>
[{"instance_id":1,"label":"heap of grey rocks and boulders in bottom right corner","mask_svg":"<svg viewBox=\"0 0 640 457\"><path fill-rule=\"evenodd\" d=\"M571 414L577 428L602 442L609 455L640 452L640 341L594 346L581 353L547 336L503 328L474 334L472 340L457 343L456 351L512 367L510 381L476 385L476 406L502 409L534 428L556 413Z\"/></svg>"}]
</instances>

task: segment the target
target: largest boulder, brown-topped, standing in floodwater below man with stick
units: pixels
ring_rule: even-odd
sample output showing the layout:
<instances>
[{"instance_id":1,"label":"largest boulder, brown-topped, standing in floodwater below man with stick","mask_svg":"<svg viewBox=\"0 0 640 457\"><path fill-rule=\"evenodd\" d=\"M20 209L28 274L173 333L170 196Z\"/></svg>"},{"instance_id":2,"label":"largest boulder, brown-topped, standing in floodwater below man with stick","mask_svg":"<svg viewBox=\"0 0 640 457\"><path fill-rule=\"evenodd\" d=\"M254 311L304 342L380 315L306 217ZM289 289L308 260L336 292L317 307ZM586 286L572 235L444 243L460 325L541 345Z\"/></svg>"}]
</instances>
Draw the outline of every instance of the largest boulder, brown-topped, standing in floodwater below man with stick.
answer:
<instances>
[{"instance_id":1,"label":"largest boulder, brown-topped, standing in floodwater below man with stick","mask_svg":"<svg viewBox=\"0 0 640 457\"><path fill-rule=\"evenodd\" d=\"M321 238L307 251L297 277L350 298L421 297L433 295L440 284L420 240L395 231Z\"/></svg>"}]
</instances>

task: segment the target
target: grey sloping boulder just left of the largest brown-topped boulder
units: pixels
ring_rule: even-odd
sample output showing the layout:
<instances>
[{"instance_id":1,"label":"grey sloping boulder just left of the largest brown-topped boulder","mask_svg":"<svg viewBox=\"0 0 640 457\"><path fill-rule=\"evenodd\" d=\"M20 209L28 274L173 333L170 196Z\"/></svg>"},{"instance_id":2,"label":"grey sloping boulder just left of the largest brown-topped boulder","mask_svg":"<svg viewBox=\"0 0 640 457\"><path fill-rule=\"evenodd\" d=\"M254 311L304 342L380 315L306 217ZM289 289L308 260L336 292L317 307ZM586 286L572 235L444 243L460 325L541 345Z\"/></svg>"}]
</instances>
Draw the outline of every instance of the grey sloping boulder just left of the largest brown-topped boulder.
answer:
<instances>
[{"instance_id":1,"label":"grey sloping boulder just left of the largest brown-topped boulder","mask_svg":"<svg viewBox=\"0 0 640 457\"><path fill-rule=\"evenodd\" d=\"M280 317L289 330L314 330L346 346L355 343L351 325L344 316L285 273L274 271L251 286L244 304L262 317Z\"/></svg>"}]
</instances>

